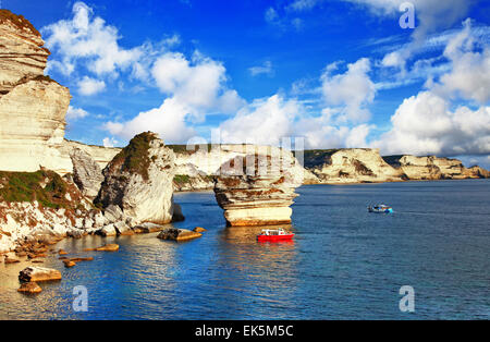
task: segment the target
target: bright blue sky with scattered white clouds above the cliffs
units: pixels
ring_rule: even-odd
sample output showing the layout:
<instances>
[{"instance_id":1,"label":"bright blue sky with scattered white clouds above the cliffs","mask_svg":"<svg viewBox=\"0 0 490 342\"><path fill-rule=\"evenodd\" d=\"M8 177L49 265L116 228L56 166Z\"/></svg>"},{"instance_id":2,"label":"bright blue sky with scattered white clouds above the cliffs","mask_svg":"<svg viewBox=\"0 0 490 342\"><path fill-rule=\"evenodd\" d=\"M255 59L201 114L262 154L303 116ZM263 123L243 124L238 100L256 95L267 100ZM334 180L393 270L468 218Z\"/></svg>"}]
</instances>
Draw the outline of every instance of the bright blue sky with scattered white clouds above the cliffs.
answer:
<instances>
[{"instance_id":1,"label":"bright blue sky with scattered white clouds above the cliffs","mask_svg":"<svg viewBox=\"0 0 490 342\"><path fill-rule=\"evenodd\" d=\"M169 144L293 137L307 149L371 147L490 168L490 1L1 7L41 32L46 74L73 97L69 139L124 146L144 131Z\"/></svg>"}]
</instances>

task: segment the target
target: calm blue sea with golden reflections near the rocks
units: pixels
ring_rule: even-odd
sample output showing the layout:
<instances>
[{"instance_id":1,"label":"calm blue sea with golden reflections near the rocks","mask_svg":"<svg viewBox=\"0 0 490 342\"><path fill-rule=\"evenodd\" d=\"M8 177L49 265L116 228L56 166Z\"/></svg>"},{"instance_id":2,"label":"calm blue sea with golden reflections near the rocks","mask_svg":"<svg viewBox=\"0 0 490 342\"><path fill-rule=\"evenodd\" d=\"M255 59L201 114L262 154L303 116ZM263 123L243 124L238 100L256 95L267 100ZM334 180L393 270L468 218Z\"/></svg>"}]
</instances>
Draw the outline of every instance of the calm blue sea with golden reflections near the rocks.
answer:
<instances>
[{"instance_id":1,"label":"calm blue sea with golden reflections near the rocks","mask_svg":"<svg viewBox=\"0 0 490 342\"><path fill-rule=\"evenodd\" d=\"M42 293L16 292L0 264L0 319L490 319L490 181L298 188L292 243L258 243L259 229L226 229L212 193L176 194L186 221L208 229L176 244L157 234L65 240L94 261L65 269ZM368 213L369 204L393 215ZM84 253L115 242L118 253ZM75 313L73 288L88 291ZM399 290L415 290L401 313Z\"/></svg>"}]
</instances>

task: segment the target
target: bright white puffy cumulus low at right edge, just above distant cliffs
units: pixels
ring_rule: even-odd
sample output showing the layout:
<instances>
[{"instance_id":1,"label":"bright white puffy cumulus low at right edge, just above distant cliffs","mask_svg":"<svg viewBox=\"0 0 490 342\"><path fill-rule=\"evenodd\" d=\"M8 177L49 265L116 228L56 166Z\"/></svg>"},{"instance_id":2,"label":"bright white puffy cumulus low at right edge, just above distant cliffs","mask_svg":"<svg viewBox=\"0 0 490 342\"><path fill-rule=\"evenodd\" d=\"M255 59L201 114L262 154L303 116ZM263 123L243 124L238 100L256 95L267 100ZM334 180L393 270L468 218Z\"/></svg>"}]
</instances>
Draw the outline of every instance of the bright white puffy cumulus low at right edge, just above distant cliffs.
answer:
<instances>
[{"instance_id":1,"label":"bright white puffy cumulus low at right edge, just above distant cliffs","mask_svg":"<svg viewBox=\"0 0 490 342\"><path fill-rule=\"evenodd\" d=\"M384 154L490 154L490 107L471 110L431 91L405 99L391 118L393 127L372 143Z\"/></svg>"}]
</instances>

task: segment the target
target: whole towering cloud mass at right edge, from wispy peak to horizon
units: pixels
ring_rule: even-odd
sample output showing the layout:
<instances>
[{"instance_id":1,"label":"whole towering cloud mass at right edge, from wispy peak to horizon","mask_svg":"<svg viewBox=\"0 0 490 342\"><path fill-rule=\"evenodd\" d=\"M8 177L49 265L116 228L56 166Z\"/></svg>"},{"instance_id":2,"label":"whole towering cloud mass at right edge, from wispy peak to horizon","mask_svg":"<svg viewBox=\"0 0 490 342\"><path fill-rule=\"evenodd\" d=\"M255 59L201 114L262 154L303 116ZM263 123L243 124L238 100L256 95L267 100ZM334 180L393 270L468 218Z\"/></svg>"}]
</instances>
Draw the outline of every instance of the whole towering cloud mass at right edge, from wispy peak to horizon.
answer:
<instances>
[{"instance_id":1,"label":"whole towering cloud mass at right edge, from wispy peak to horizon","mask_svg":"<svg viewBox=\"0 0 490 342\"><path fill-rule=\"evenodd\" d=\"M391 131L373 146L387 154L490 154L490 52L470 33L465 21L444 49L450 70L405 99L391 118Z\"/></svg>"}]
</instances>

